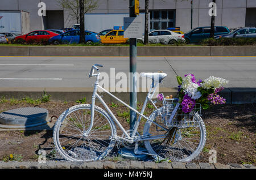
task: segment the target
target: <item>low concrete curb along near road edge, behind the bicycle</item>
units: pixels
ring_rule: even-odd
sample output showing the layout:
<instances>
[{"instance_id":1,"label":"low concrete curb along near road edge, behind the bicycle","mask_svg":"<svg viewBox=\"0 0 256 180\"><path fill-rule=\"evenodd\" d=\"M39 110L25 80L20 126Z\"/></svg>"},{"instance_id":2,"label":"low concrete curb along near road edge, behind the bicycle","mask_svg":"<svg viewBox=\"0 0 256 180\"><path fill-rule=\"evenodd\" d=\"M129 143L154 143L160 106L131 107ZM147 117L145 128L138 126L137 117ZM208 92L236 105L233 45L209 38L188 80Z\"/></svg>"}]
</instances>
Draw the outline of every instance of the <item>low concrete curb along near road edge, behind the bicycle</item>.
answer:
<instances>
[{"instance_id":1,"label":"low concrete curb along near road edge, behind the bicycle","mask_svg":"<svg viewBox=\"0 0 256 180\"><path fill-rule=\"evenodd\" d=\"M92 88L0 88L0 97L6 99L16 98L22 99L30 97L33 99L41 98L43 91L51 95L53 101L76 101L86 97L86 101L92 100ZM172 95L177 97L177 88L159 88L159 92L164 95ZM107 103L118 102L115 98L106 93L99 93L103 95ZM137 101L144 102L147 92L138 92ZM129 102L129 92L113 92L114 96L122 99L126 103ZM226 99L226 104L254 104L256 103L256 88L240 88L230 87L225 88L220 92L220 96Z\"/></svg>"}]
</instances>

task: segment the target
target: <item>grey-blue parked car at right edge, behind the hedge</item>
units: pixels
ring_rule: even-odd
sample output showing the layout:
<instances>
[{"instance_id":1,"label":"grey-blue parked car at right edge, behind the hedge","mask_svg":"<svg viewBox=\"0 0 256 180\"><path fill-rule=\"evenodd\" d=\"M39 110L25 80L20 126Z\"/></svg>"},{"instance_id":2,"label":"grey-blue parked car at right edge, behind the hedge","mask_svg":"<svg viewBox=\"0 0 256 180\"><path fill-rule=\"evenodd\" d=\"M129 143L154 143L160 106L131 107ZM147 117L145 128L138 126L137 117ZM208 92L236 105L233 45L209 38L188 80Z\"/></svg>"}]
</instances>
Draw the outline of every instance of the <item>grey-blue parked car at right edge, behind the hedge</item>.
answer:
<instances>
[{"instance_id":1,"label":"grey-blue parked car at right edge, behind the hedge","mask_svg":"<svg viewBox=\"0 0 256 180\"><path fill-rule=\"evenodd\" d=\"M214 36L214 38L233 38L233 37L256 37L256 28L253 27L245 27L245 28L238 28L234 29L228 35L220 35L220 36Z\"/></svg>"}]
</instances>

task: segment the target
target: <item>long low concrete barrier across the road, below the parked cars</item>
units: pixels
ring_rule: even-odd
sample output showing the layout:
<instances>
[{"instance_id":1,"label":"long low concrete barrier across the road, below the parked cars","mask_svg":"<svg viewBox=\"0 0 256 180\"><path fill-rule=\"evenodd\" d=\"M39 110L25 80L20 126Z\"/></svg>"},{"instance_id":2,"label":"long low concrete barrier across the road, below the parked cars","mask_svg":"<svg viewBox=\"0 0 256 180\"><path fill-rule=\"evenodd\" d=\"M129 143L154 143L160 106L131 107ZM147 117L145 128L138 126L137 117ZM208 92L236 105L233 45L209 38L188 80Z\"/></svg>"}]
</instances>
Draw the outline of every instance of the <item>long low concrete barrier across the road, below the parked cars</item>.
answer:
<instances>
[{"instance_id":1,"label":"long low concrete barrier across the road, below the parked cars","mask_svg":"<svg viewBox=\"0 0 256 180\"><path fill-rule=\"evenodd\" d=\"M0 55L129 56L129 46L0 46ZM138 56L256 56L256 46L138 46Z\"/></svg>"}]
</instances>

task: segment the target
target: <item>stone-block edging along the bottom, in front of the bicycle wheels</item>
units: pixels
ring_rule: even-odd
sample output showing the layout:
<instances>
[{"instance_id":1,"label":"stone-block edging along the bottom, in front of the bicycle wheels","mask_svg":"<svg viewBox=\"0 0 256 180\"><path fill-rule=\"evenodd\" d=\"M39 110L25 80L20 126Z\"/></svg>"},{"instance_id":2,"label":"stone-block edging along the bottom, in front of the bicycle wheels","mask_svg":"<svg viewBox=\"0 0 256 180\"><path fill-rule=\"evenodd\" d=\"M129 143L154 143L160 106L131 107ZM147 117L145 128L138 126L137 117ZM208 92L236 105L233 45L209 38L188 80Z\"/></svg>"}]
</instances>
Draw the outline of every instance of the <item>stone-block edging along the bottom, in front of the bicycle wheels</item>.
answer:
<instances>
[{"instance_id":1,"label":"stone-block edging along the bottom, in front of the bicycle wheels","mask_svg":"<svg viewBox=\"0 0 256 180\"><path fill-rule=\"evenodd\" d=\"M149 161L94 161L94 162L68 162L48 161L39 162L0 162L0 169L256 169L250 164L209 164L205 162L149 162Z\"/></svg>"}]
</instances>

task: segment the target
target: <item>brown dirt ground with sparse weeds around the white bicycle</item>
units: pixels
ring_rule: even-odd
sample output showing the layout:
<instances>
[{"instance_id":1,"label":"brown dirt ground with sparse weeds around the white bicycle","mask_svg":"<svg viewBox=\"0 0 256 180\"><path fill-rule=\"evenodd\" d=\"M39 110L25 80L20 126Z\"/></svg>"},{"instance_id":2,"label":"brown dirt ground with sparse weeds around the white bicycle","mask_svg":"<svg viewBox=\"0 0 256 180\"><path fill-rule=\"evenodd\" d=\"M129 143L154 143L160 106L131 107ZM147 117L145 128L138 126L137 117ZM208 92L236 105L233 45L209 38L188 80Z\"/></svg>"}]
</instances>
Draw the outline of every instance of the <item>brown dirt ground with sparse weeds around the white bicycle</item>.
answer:
<instances>
[{"instance_id":1,"label":"brown dirt ground with sparse weeds around the white bicycle","mask_svg":"<svg viewBox=\"0 0 256 180\"><path fill-rule=\"evenodd\" d=\"M73 105L77 105L77 102L50 101L39 104L41 108L48 110L49 117L59 116ZM35 104L6 100L0 102L0 113L29 106L34 107ZM129 110L123 105L110 104L109 106L122 125L129 129ZM141 108L142 104L138 104L138 109ZM146 115L153 110L152 106L147 106ZM217 152L217 162L222 164L256 165L256 104L212 106L210 109L202 111L202 118L207 128L207 142L203 152L193 160L194 162L208 162L209 151L214 149ZM143 125L142 122L138 132L142 132ZM59 157L54 150L51 130L0 131L0 144L0 161L9 161L10 155L13 155L11 160L15 158L19 161L37 161L39 149L46 150L48 159L56 160ZM112 157L108 160L118 161L121 159Z\"/></svg>"}]
</instances>

